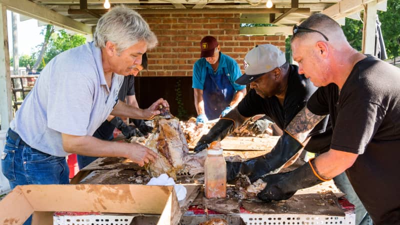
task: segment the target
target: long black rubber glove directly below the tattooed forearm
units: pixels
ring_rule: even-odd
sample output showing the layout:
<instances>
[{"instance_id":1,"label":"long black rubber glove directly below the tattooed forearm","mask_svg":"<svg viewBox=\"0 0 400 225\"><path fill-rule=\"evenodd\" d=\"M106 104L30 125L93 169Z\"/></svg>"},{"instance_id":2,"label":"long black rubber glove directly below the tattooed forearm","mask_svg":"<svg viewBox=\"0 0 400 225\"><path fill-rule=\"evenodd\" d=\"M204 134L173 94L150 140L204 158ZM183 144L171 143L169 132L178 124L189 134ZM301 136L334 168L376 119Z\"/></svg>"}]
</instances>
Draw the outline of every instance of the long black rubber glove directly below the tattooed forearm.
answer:
<instances>
[{"instance_id":1,"label":"long black rubber glove directly below the tattooed forearm","mask_svg":"<svg viewBox=\"0 0 400 225\"><path fill-rule=\"evenodd\" d=\"M241 174L254 182L266 173L280 168L301 148L301 143L284 132L269 153L243 162L226 161L226 180L233 180Z\"/></svg>"}]
</instances>

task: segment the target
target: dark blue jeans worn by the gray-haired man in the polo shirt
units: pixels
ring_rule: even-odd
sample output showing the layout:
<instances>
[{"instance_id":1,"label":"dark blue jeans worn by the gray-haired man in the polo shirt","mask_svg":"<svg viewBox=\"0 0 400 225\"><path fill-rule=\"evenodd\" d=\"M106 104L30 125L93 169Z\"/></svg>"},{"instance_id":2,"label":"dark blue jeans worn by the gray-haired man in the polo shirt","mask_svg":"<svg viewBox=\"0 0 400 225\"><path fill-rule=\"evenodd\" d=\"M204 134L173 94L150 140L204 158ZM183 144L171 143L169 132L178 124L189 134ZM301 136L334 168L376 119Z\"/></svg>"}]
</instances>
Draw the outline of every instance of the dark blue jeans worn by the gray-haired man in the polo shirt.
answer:
<instances>
[{"instance_id":1,"label":"dark blue jeans worn by the gray-haired man in the polo shirt","mask_svg":"<svg viewBox=\"0 0 400 225\"><path fill-rule=\"evenodd\" d=\"M69 183L69 168L65 157L46 154L30 147L11 129L6 134L4 153L1 171L11 189L24 184ZM24 224L30 224L30 220L31 216Z\"/></svg>"}]
</instances>

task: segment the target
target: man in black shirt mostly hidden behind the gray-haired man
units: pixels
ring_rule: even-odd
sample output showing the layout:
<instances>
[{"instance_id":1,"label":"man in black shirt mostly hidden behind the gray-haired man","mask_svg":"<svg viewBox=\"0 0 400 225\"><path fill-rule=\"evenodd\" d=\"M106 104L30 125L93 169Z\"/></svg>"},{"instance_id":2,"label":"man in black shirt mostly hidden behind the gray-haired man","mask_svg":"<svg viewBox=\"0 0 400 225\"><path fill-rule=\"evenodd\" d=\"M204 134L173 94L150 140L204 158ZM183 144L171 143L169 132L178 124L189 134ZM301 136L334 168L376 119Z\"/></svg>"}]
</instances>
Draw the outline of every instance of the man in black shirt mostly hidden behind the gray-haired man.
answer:
<instances>
[{"instance_id":1,"label":"man in black shirt mostly hidden behind the gray-haired man","mask_svg":"<svg viewBox=\"0 0 400 225\"><path fill-rule=\"evenodd\" d=\"M144 53L141 56L141 65L138 65L132 69L131 74L125 76L123 78L123 82L121 87L119 88L118 98L119 100L125 102L129 105L133 105L135 107L139 107L137 104L137 100L134 94L134 77L138 74L138 72L142 69L147 69L147 54ZM126 98L126 99L125 99ZM102 140L112 140L113 139L113 131L115 127L122 131L122 134L126 138L130 138L132 136L138 135L146 135L148 132L151 132L152 127L148 126L144 123L143 119L133 119L133 123L137 128L134 128L130 125L127 125L120 117L109 115L107 119L101 123L101 125L94 131L93 136ZM79 169L85 167L90 164L90 162L96 160L97 157L86 156L86 155L77 155L77 162Z\"/></svg>"}]
</instances>

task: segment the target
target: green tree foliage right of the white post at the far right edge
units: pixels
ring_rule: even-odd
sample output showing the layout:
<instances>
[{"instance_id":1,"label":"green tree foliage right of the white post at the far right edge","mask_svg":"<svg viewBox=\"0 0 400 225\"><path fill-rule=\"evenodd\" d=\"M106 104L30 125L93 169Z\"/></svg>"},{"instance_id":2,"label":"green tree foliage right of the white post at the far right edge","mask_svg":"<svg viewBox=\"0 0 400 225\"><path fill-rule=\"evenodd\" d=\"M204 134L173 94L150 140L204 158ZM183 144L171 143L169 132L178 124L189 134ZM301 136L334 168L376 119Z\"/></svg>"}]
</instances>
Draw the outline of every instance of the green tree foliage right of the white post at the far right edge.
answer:
<instances>
[{"instance_id":1,"label":"green tree foliage right of the white post at the far right edge","mask_svg":"<svg viewBox=\"0 0 400 225\"><path fill-rule=\"evenodd\" d=\"M388 0L387 10L379 11L382 36L388 58L400 55L400 0Z\"/></svg>"}]
</instances>

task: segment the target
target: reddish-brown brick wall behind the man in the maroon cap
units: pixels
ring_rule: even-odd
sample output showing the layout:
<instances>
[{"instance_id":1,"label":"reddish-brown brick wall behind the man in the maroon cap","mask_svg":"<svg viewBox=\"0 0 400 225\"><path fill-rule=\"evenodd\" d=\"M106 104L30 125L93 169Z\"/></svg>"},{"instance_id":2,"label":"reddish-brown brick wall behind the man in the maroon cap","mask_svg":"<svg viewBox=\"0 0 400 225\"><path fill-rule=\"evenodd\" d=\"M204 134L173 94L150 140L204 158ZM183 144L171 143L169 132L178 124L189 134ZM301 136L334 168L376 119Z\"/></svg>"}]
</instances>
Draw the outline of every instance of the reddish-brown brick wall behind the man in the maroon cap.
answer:
<instances>
[{"instance_id":1,"label":"reddish-brown brick wall behind the man in the maroon cap","mask_svg":"<svg viewBox=\"0 0 400 225\"><path fill-rule=\"evenodd\" d=\"M239 14L142 14L157 35L158 45L148 52L148 72L140 76L191 76L200 55L200 40L212 35L221 51L243 70L244 55L256 44L270 43L284 51L285 37L240 36Z\"/></svg>"}]
</instances>

